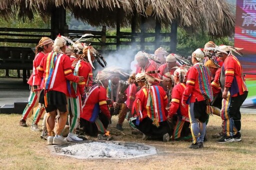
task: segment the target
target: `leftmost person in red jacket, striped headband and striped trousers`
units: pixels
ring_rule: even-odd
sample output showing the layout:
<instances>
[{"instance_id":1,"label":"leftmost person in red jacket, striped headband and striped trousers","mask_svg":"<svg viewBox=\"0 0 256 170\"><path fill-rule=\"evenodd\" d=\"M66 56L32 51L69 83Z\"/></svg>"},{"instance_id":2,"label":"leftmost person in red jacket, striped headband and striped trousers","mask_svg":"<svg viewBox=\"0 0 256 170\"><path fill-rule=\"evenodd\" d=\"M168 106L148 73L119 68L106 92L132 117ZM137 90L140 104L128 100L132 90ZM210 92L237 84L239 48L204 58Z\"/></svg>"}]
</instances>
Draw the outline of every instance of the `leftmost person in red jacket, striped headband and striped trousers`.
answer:
<instances>
[{"instance_id":1,"label":"leftmost person in red jacket, striped headband and striped trousers","mask_svg":"<svg viewBox=\"0 0 256 170\"><path fill-rule=\"evenodd\" d=\"M36 68L39 66L41 59L43 56L51 52L52 50L52 39L48 37L42 37L38 43L38 45L35 47L35 57L33 60L33 72L28 79L27 83L31 86L30 95L28 98L28 104L26 105L22 117L19 121L19 125L26 127L26 119L31 115L30 113L34 109L34 119L31 124L31 130L39 132L39 129L37 127L37 123L40 120L41 115L44 112L44 107L41 105L38 105L38 95L40 92L40 85L41 85L41 77L38 76ZM36 108L36 110L35 110Z\"/></svg>"}]
</instances>

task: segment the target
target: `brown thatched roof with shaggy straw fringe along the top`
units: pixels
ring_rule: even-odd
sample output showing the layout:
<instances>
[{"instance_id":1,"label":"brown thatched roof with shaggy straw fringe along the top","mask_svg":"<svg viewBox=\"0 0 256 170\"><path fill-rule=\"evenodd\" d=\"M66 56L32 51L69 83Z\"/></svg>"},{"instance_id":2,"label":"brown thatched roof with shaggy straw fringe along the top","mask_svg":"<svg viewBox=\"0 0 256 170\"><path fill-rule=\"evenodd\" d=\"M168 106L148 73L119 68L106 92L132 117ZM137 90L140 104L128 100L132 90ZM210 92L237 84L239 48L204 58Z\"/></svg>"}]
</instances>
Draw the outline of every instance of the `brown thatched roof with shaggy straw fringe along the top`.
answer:
<instances>
[{"instance_id":1,"label":"brown thatched roof with shaggy straw fringe along the top","mask_svg":"<svg viewBox=\"0 0 256 170\"><path fill-rule=\"evenodd\" d=\"M118 8L121 25L130 24L136 13L151 15L163 24L176 19L181 27L213 36L230 35L234 30L234 15L226 0L0 0L0 15L12 17L11 9L18 10L21 19L32 19L33 12L45 18L52 7L61 5L94 26L115 26Z\"/></svg>"}]
</instances>

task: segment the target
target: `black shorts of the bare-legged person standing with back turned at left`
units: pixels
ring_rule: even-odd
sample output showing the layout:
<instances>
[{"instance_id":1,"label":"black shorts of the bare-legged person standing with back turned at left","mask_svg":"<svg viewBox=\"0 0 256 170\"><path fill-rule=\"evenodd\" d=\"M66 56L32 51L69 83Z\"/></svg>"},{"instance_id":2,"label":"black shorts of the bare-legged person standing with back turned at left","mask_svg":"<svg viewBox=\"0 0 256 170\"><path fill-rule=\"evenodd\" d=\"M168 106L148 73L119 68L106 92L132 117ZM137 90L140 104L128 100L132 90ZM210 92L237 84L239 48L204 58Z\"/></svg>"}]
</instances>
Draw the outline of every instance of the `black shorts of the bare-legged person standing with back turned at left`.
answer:
<instances>
[{"instance_id":1,"label":"black shorts of the bare-legged person standing with back turned at left","mask_svg":"<svg viewBox=\"0 0 256 170\"><path fill-rule=\"evenodd\" d=\"M45 107L45 101L44 101L44 96L46 95L46 100L47 100L47 107ZM59 110L59 112L66 112L66 95L62 92L58 91L48 91L47 94L44 94L44 90L41 91L40 96L39 96L39 103L44 104L45 111L52 112L54 110Z\"/></svg>"}]
</instances>

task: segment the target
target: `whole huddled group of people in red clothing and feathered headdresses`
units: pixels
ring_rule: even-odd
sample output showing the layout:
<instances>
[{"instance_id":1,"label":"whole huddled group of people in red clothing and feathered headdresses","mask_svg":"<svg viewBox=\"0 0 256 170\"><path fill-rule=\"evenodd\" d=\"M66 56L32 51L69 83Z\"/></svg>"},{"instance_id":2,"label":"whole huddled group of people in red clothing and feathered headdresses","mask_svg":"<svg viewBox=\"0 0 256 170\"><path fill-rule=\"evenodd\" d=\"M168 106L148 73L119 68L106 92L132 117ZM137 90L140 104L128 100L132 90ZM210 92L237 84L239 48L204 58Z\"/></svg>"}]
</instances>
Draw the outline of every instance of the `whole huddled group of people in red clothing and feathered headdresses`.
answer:
<instances>
[{"instance_id":1,"label":"whole huddled group of people in red clothing and feathered headdresses","mask_svg":"<svg viewBox=\"0 0 256 170\"><path fill-rule=\"evenodd\" d=\"M113 115L118 115L119 131L126 118L143 140L192 141L189 148L199 149L209 115L215 114L223 120L216 142L241 141L239 109L248 90L241 64L233 55L234 51L239 54L237 48L209 41L192 53L191 64L162 47L154 56L139 51L134 73L125 81L121 78L127 74L118 67L105 68L93 79L93 61L105 67L104 58L90 45L76 41L66 46L67 41L60 35L54 41L47 37L39 41L28 80L29 102L19 121L27 126L34 109L31 130L40 131L37 124L46 112L41 137L48 145L84 140L77 130L110 140L106 129ZM62 136L65 126L66 138Z\"/></svg>"}]
</instances>

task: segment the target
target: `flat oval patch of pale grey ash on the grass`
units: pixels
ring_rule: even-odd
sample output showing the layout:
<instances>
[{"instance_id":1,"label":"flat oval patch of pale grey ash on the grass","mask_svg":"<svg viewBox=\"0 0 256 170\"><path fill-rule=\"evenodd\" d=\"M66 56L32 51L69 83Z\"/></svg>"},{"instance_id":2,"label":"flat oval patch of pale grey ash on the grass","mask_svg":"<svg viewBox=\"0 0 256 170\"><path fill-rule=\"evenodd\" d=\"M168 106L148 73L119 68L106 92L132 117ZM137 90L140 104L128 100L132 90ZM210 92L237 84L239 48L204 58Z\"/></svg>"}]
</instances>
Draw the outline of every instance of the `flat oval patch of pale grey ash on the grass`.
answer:
<instances>
[{"instance_id":1,"label":"flat oval patch of pale grey ash on the grass","mask_svg":"<svg viewBox=\"0 0 256 170\"><path fill-rule=\"evenodd\" d=\"M132 159L156 154L152 146L119 141L83 141L49 148L53 155L76 159Z\"/></svg>"}]
</instances>

